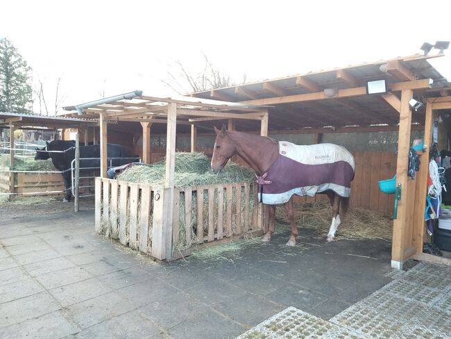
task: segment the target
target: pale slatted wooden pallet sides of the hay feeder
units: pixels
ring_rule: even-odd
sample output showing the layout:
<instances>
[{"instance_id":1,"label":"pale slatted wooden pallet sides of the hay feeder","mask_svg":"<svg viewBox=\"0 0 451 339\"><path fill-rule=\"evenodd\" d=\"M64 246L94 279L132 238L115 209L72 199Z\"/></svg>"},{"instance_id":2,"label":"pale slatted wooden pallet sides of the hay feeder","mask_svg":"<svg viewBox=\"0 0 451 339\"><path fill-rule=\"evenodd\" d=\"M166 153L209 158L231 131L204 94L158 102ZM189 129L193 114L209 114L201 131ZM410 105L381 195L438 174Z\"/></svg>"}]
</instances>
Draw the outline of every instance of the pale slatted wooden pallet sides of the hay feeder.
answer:
<instances>
[{"instance_id":1,"label":"pale slatted wooden pallet sides of the hay feeder","mask_svg":"<svg viewBox=\"0 0 451 339\"><path fill-rule=\"evenodd\" d=\"M96 178L96 232L160 260L206 243L262 235L267 222L249 183L169 189ZM172 222L167 210L173 208Z\"/></svg>"}]
</instances>

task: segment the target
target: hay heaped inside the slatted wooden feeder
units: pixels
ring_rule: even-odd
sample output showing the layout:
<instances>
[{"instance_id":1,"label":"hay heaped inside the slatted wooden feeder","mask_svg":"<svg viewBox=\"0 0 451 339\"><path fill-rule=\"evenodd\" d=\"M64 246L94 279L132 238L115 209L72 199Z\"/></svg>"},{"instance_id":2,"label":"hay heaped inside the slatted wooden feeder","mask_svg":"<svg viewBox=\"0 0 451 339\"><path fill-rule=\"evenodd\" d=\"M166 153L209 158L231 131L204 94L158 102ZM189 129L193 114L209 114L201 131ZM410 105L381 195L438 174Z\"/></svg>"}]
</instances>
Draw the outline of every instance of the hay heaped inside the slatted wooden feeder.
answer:
<instances>
[{"instance_id":1,"label":"hay heaped inside the slatted wooden feeder","mask_svg":"<svg viewBox=\"0 0 451 339\"><path fill-rule=\"evenodd\" d=\"M153 165L136 165L126 169L117 179L132 183L146 183L152 186L164 185L166 160ZM214 174L210 160L203 153L176 153L175 185L184 188L216 183L250 182L255 178L253 172L235 163L228 163L220 174Z\"/></svg>"}]
</instances>

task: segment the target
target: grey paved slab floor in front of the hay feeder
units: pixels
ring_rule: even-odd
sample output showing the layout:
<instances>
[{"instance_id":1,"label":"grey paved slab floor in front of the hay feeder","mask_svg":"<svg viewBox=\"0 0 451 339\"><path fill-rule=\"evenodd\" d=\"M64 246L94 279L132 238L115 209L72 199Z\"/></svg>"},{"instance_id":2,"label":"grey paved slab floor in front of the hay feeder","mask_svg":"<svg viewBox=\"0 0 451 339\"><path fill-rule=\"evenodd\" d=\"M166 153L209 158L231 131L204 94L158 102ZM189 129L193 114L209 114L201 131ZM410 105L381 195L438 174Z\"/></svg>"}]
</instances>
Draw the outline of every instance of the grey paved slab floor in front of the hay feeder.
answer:
<instances>
[{"instance_id":1,"label":"grey paved slab floor in front of the hay feeder","mask_svg":"<svg viewBox=\"0 0 451 339\"><path fill-rule=\"evenodd\" d=\"M235 338L288 306L330 320L397 276L383 240L299 228L289 248L286 226L222 258L155 263L93 220L0 213L0 338Z\"/></svg>"}]
</instances>

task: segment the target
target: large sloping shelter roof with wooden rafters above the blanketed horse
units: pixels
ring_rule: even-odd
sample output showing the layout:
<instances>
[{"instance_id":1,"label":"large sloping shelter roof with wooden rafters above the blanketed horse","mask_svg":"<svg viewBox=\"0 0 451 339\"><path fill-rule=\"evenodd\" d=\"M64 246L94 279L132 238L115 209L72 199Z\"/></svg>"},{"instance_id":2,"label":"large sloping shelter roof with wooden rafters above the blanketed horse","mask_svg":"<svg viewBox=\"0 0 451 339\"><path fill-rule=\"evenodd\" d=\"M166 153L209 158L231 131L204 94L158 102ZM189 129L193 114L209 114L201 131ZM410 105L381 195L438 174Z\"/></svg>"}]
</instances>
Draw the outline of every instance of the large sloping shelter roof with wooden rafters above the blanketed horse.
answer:
<instances>
[{"instance_id":1,"label":"large sloping shelter roof with wooden rafters above the blanketed horse","mask_svg":"<svg viewBox=\"0 0 451 339\"><path fill-rule=\"evenodd\" d=\"M190 95L272 106L269 110L271 129L395 125L399 122L396 108L402 89L411 88L414 98L423 102L427 98L450 95L451 84L428 61L441 56L444 54L378 60ZM432 85L428 83L429 78L434 81ZM380 79L386 80L388 93L367 94L367 81ZM424 113L425 105L414 113L413 121L423 124Z\"/></svg>"}]
</instances>

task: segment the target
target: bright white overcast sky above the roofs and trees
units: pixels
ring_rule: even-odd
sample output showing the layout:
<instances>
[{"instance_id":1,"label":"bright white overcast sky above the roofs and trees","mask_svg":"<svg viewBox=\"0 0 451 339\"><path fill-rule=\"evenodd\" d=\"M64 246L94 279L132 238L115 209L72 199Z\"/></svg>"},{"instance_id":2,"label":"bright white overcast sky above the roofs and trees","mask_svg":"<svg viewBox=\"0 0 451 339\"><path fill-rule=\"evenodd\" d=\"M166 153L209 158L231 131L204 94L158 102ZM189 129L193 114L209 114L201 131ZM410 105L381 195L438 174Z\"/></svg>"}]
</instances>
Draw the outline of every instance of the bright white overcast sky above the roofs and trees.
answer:
<instances>
[{"instance_id":1,"label":"bright white overcast sky above the roofs and trees","mask_svg":"<svg viewBox=\"0 0 451 339\"><path fill-rule=\"evenodd\" d=\"M179 75L175 62L196 74L203 54L241 83L244 74L304 74L451 40L449 0L3 0L0 8L0 38L33 68L51 107L58 78L62 105L71 106L133 90L170 96L162 81ZM450 56L429 62L451 79Z\"/></svg>"}]
</instances>

